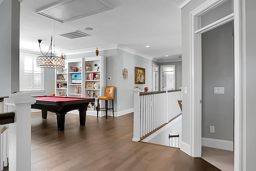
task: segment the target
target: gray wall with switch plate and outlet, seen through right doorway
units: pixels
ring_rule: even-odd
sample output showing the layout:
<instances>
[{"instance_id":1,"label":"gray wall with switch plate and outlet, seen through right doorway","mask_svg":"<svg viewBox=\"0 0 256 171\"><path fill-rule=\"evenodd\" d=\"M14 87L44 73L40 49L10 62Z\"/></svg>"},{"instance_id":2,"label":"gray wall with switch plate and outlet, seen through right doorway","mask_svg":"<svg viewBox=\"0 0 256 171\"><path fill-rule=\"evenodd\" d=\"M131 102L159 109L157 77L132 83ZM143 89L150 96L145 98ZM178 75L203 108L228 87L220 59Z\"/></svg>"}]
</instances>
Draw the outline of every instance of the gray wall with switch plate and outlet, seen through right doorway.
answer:
<instances>
[{"instance_id":1,"label":"gray wall with switch plate and outlet, seen through right doorway","mask_svg":"<svg viewBox=\"0 0 256 171\"><path fill-rule=\"evenodd\" d=\"M202 137L234 140L233 24L202 34ZM224 87L225 94L214 94L214 87Z\"/></svg>"}]
</instances>

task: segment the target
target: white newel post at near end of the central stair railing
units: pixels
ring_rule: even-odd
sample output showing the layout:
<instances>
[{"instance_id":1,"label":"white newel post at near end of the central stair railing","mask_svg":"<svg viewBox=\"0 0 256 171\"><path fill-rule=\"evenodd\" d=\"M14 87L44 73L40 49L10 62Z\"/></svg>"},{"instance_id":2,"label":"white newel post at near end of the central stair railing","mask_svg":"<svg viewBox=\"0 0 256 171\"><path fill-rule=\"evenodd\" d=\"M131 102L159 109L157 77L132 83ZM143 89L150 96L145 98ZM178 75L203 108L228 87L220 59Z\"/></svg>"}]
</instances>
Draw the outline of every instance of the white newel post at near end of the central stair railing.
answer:
<instances>
[{"instance_id":1,"label":"white newel post at near end of the central stair railing","mask_svg":"<svg viewBox=\"0 0 256 171\"><path fill-rule=\"evenodd\" d=\"M135 88L134 111L133 111L133 138L132 141L140 141L140 89Z\"/></svg>"}]
</instances>

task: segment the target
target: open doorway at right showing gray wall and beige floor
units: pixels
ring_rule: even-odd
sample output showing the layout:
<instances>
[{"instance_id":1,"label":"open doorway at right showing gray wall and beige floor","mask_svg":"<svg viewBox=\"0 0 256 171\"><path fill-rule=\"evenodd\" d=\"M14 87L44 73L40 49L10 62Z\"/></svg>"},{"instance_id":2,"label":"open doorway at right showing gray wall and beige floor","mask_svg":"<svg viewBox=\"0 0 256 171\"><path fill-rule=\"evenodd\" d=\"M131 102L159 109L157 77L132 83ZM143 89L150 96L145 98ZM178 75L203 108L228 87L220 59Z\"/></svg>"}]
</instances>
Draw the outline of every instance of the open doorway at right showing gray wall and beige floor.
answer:
<instances>
[{"instance_id":1,"label":"open doorway at right showing gray wall and beige floor","mask_svg":"<svg viewBox=\"0 0 256 171\"><path fill-rule=\"evenodd\" d=\"M234 170L233 28L202 34L202 158L221 170Z\"/></svg>"}]
</instances>

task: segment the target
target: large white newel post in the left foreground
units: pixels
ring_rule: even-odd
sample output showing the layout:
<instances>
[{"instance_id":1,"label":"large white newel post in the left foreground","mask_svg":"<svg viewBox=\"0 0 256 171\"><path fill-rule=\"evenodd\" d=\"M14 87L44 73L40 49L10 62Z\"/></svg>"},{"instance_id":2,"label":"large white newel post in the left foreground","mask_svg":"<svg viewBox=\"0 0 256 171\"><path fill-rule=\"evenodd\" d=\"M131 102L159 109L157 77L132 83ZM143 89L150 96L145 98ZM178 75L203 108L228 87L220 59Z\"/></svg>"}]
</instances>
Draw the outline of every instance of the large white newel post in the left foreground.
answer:
<instances>
[{"instance_id":1,"label":"large white newel post in the left foreground","mask_svg":"<svg viewBox=\"0 0 256 171\"><path fill-rule=\"evenodd\" d=\"M31 170L31 104L30 94L14 93L4 99L8 112L14 112L9 128L9 171Z\"/></svg>"}]
</instances>

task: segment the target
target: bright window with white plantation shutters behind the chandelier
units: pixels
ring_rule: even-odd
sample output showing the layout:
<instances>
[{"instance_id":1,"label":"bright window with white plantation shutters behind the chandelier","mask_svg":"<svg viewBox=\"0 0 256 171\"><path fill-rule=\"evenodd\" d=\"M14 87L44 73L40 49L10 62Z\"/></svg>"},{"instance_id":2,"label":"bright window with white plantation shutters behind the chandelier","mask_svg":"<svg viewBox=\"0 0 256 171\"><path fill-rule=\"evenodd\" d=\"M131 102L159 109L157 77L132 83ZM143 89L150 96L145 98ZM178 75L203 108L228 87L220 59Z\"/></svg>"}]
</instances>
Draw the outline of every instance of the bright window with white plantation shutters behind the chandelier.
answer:
<instances>
[{"instance_id":1,"label":"bright window with white plantation shutters behind the chandelier","mask_svg":"<svg viewBox=\"0 0 256 171\"><path fill-rule=\"evenodd\" d=\"M36 56L20 53L20 91L44 92L44 69L36 66Z\"/></svg>"}]
</instances>

